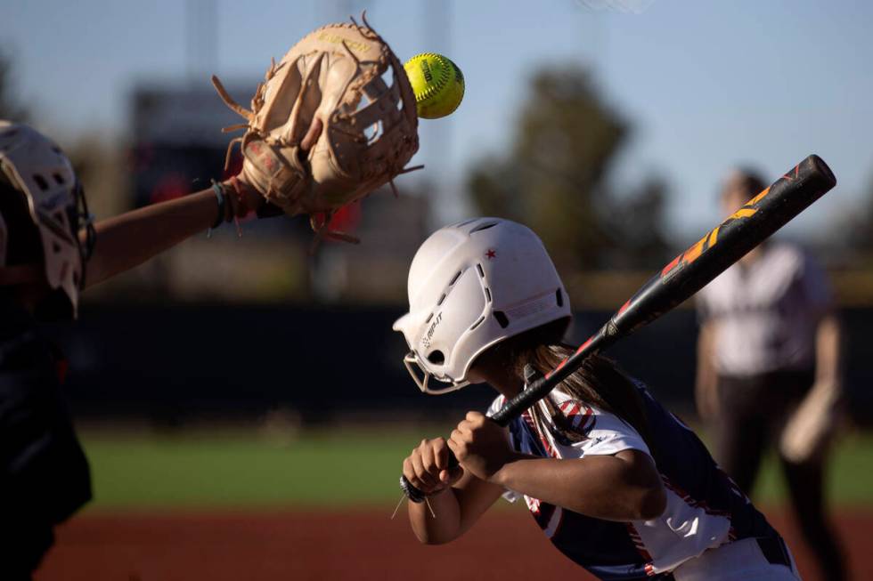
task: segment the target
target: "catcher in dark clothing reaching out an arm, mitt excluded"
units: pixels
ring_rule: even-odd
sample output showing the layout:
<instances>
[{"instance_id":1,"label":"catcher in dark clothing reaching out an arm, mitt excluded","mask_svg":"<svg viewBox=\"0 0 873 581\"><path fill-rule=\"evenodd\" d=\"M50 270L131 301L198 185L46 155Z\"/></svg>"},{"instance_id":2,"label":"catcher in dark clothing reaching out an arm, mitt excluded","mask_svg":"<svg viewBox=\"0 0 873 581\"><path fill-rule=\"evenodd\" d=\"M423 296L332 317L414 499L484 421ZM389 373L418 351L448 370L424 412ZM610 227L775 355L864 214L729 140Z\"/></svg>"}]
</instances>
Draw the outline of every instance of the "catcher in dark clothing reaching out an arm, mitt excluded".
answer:
<instances>
[{"instance_id":1,"label":"catcher in dark clothing reaching out an arm, mitt excluded","mask_svg":"<svg viewBox=\"0 0 873 581\"><path fill-rule=\"evenodd\" d=\"M0 121L0 578L30 579L53 527L91 498L61 394L66 361L38 321L75 319L86 287L208 228L273 214L267 209L232 178L94 224L61 149Z\"/></svg>"}]
</instances>

